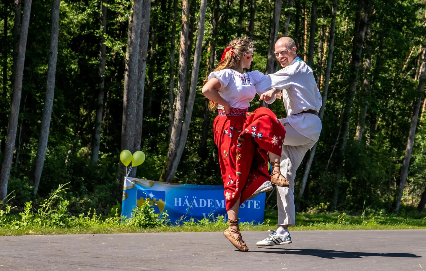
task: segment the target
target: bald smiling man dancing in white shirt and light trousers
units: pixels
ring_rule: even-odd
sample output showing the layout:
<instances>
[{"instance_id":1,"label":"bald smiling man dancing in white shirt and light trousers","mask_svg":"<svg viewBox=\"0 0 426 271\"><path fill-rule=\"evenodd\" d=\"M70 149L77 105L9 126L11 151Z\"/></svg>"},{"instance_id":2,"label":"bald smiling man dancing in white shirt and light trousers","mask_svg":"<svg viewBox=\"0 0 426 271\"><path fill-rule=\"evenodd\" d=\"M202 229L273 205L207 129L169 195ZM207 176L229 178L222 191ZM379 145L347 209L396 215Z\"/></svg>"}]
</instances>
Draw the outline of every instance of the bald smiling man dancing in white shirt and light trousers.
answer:
<instances>
[{"instance_id":1,"label":"bald smiling man dancing in white shirt and light trousers","mask_svg":"<svg viewBox=\"0 0 426 271\"><path fill-rule=\"evenodd\" d=\"M256 246L275 246L291 243L288 226L294 226L294 178L305 153L318 141L321 133L321 120L318 111L322 100L314 74L296 54L296 44L289 37L282 37L275 43L275 56L282 69L264 76L257 84L256 91L264 93L265 101L275 100L271 88L283 90L287 117L279 119L285 127L280 170L290 187L277 186L278 228L256 243Z\"/></svg>"}]
</instances>

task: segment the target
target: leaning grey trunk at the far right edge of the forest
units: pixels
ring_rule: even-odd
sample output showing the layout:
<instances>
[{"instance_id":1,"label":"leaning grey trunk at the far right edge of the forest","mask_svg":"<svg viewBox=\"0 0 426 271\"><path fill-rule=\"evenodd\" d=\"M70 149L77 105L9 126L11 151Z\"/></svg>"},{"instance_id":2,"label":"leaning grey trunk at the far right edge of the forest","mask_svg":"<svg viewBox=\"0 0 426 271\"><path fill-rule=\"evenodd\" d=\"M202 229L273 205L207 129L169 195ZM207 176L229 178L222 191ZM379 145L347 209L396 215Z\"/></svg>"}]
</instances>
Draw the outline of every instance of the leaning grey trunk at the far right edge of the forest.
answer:
<instances>
[{"instance_id":1,"label":"leaning grey trunk at the far right edge of the forest","mask_svg":"<svg viewBox=\"0 0 426 271\"><path fill-rule=\"evenodd\" d=\"M408 134L407 139L407 145L405 149L405 155L404 155L404 161L403 166L401 169L401 176L400 176L400 186L399 186L399 192L397 194L397 203L395 207L395 211L398 213L400 206L401 206L401 199L402 194L405 188L405 183L407 181L407 175L408 175L408 169L410 166L410 159L411 159L411 152L413 150L413 144L414 144L414 136L416 135L416 128L417 128L417 120L419 118L419 111L420 111L420 104L423 98L423 92L425 87L425 69L426 69L426 47L423 49L423 62L420 66L420 75L419 75L419 87L418 87L418 93L417 93L417 101L414 104L413 114L411 118L411 124L410 124L410 131Z\"/></svg>"}]
</instances>

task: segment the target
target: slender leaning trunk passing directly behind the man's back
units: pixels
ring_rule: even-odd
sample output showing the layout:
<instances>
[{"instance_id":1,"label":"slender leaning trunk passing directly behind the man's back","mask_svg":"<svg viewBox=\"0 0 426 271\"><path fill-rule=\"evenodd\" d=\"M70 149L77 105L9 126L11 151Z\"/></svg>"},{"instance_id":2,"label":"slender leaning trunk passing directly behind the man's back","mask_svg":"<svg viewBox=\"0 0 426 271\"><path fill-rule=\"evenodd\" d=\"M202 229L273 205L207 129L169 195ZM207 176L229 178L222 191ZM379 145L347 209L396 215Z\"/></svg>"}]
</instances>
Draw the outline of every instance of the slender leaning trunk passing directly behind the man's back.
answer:
<instances>
[{"instance_id":1,"label":"slender leaning trunk passing directly behind the man's back","mask_svg":"<svg viewBox=\"0 0 426 271\"><path fill-rule=\"evenodd\" d=\"M334 52L334 37L336 30L336 15L337 15L337 0L333 0L333 9L331 14L331 27L330 27L330 41L328 47L328 56L327 56L327 68L325 70L325 84L324 91L322 92L322 106L320 108L319 117L322 120L324 117L325 103L327 102L328 95L328 86L330 82L330 74L331 74L331 64L333 62L333 52ZM306 163L305 172L303 173L302 185L299 189L299 198L302 198L303 193L305 192L306 183L308 181L309 172L311 171L312 161L314 161L315 152L317 150L318 142L315 143L314 147L312 147L309 152L308 162Z\"/></svg>"}]
</instances>

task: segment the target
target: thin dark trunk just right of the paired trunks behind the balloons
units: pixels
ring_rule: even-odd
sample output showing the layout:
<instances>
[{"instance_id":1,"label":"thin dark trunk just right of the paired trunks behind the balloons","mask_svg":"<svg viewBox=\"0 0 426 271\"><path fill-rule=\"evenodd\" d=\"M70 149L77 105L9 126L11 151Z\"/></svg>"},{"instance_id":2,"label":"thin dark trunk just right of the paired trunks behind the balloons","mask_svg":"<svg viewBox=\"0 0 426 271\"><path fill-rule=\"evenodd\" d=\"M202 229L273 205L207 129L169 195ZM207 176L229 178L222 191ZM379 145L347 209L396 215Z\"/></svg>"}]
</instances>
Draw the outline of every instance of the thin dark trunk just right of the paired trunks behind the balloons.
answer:
<instances>
[{"instance_id":1,"label":"thin dark trunk just right of the paired trunks behind the balloons","mask_svg":"<svg viewBox=\"0 0 426 271\"><path fill-rule=\"evenodd\" d=\"M153 88L154 88L154 71L155 71L155 58L156 58L156 50L157 47L157 25L158 25L158 0L155 0L153 10L155 13L153 14L153 26L151 28L151 47L150 47L150 55L148 57L148 82L147 82L147 99L145 101L145 112L147 113L147 117L151 117L152 111L152 103L153 103Z\"/></svg>"}]
</instances>

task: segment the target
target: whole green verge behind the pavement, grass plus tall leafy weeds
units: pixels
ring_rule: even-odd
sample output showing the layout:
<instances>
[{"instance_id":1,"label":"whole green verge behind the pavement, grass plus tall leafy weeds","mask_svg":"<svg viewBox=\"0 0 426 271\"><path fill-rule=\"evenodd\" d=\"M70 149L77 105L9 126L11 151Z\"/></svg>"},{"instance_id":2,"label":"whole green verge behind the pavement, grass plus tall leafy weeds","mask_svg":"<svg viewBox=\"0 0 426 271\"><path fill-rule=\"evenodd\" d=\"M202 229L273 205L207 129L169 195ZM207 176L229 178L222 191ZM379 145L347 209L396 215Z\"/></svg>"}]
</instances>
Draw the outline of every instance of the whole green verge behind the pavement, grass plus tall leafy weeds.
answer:
<instances>
[{"instance_id":1,"label":"whole green verge behind the pavement, grass plus tall leafy weeds","mask_svg":"<svg viewBox=\"0 0 426 271\"><path fill-rule=\"evenodd\" d=\"M132 218L124 219L113 209L109 217L97 215L95 211L72 216L60 193L66 188L58 187L55 192L43 201L38 208L30 201L19 215L12 215L13 209L6 202L0 202L0 236L32 235L32 234L107 234L107 233L145 233L145 232L201 232L224 231L228 224L224 217L215 220L202 219L182 222L183 225L170 226L167 214L158 215L146 201L138 209L133 210ZM322 205L310 213L296 214L296 226L292 231L312 230L378 230L378 229L426 229L426 216L415 215L346 215L345 213L327 213ZM321 212L321 213L319 213ZM414 218L415 217L415 218ZM124 219L124 220L123 220ZM260 225L254 223L240 223L242 231L267 231L275 229L277 225L277 211L266 210L265 222ZM121 223L121 221L124 221Z\"/></svg>"}]
</instances>

